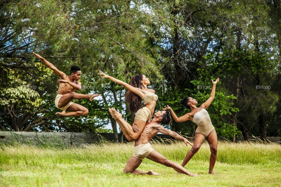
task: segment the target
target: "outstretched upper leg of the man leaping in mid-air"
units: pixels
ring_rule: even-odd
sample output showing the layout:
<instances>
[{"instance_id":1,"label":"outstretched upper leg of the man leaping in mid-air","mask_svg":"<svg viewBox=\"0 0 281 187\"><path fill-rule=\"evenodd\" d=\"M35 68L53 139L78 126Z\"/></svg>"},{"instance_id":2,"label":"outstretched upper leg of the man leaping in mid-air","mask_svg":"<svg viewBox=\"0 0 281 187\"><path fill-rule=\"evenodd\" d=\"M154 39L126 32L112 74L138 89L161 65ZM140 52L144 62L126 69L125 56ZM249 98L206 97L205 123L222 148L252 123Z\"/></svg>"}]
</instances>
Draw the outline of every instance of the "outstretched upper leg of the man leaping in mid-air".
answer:
<instances>
[{"instance_id":1,"label":"outstretched upper leg of the man leaping in mid-air","mask_svg":"<svg viewBox=\"0 0 281 187\"><path fill-rule=\"evenodd\" d=\"M99 96L99 94L85 95L80 93L75 93L74 91L71 93L66 93L59 99L58 107L62 108L66 106L73 99L86 99L88 98L90 101L93 101L94 97Z\"/></svg>"}]
</instances>

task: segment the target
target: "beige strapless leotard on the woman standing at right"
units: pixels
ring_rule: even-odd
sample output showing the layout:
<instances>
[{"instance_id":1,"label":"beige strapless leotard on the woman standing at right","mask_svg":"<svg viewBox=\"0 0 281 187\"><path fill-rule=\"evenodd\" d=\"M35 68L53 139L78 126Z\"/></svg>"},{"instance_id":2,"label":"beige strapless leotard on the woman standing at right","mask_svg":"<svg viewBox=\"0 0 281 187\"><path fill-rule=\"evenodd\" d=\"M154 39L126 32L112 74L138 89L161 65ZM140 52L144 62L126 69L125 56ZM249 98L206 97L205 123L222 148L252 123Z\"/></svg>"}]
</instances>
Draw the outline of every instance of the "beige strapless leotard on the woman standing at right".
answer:
<instances>
[{"instance_id":1,"label":"beige strapless leotard on the woman standing at right","mask_svg":"<svg viewBox=\"0 0 281 187\"><path fill-rule=\"evenodd\" d=\"M199 112L196 112L193 116L194 123L198 125L196 132L200 132L204 134L206 137L209 136L210 132L215 129L211 122L211 118L207 112L207 110L202 109Z\"/></svg>"}]
</instances>

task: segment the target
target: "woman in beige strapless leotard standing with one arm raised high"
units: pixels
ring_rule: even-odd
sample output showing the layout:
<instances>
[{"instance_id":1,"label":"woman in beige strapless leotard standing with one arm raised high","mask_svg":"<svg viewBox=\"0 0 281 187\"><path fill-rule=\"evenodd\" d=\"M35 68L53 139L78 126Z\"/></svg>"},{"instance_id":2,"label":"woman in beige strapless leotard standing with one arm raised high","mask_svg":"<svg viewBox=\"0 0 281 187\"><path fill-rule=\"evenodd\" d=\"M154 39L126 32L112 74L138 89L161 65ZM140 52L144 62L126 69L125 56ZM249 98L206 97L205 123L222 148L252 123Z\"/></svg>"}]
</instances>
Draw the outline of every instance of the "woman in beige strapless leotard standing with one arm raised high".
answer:
<instances>
[{"instance_id":1,"label":"woman in beige strapless leotard standing with one arm raised high","mask_svg":"<svg viewBox=\"0 0 281 187\"><path fill-rule=\"evenodd\" d=\"M187 162L189 162L189 160L193 157L193 155L197 153L205 138L207 138L211 149L209 174L213 174L213 168L217 160L217 133L206 109L215 98L216 84L217 82L219 82L219 80L219 78L217 78L215 82L212 80L213 88L210 98L200 107L196 107L198 102L192 97L186 97L181 100L181 104L183 104L186 108L191 109L191 112L187 113L186 115L177 117L173 109L168 105L163 108L163 110L171 111L172 116L176 122L185 122L187 120L191 120L198 125L195 131L194 147L192 147L191 150L189 150L189 152L187 153L184 162L181 164L182 167L184 167Z\"/></svg>"}]
</instances>

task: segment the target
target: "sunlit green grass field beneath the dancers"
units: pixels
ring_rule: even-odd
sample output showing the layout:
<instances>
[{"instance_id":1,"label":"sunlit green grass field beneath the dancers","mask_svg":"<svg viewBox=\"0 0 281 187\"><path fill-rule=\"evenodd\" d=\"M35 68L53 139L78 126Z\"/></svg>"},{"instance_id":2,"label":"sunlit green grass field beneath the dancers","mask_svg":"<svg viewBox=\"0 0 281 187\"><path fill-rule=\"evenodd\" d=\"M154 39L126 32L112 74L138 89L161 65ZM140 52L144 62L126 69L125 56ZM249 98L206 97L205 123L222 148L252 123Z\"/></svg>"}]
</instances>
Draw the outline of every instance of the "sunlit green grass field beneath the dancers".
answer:
<instances>
[{"instance_id":1,"label":"sunlit green grass field beneath the dancers","mask_svg":"<svg viewBox=\"0 0 281 187\"><path fill-rule=\"evenodd\" d=\"M184 143L152 143L181 164ZM0 145L0 186L281 186L281 145L219 142L215 175L208 174L210 148L204 143L186 165L198 177L144 159L138 169L161 176L123 174L133 143L102 143L83 148Z\"/></svg>"}]
</instances>

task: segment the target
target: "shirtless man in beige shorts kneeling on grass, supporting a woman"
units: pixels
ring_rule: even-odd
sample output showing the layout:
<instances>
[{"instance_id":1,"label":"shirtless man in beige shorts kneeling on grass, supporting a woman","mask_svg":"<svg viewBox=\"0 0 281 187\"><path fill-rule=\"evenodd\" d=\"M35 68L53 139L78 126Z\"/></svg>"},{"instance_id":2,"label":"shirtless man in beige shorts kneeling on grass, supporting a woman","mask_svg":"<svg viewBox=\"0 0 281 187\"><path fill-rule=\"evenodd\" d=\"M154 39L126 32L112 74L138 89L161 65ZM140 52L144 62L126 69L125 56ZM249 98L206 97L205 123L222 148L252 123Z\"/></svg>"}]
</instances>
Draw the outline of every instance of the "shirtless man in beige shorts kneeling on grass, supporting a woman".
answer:
<instances>
[{"instance_id":1,"label":"shirtless man in beige shorts kneeling on grass, supporting a woman","mask_svg":"<svg viewBox=\"0 0 281 187\"><path fill-rule=\"evenodd\" d=\"M110 114L114 117L114 119L119 118L122 119L122 114L118 113L115 108L108 108ZM124 119L123 119L124 120ZM155 151L153 148L151 148L151 145L149 143L150 139L155 136L158 132L170 135L174 138L177 138L179 140L184 141L186 146L190 144L193 146L191 142L189 142L186 138L180 136L174 131L165 129L162 127L161 124L169 124L171 122L171 115L169 111L157 111L154 113L153 119L146 123L144 130L140 134L139 138L135 141L135 148L133 156L131 156L126 163L124 173L133 173L133 174L148 174L148 175L158 175L158 173L155 173L153 171L148 172L142 172L140 170L137 170L137 168L140 166L140 163L143 161L143 158L146 157L149 160L152 160L154 162L160 163L162 165L165 165L167 167L172 167L177 172L189 175L189 176L198 176L198 174L193 174L188 172L184 167L181 165L171 162L170 160L167 160L163 155Z\"/></svg>"}]
</instances>

